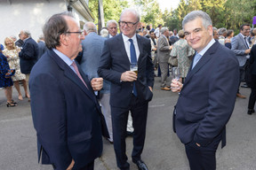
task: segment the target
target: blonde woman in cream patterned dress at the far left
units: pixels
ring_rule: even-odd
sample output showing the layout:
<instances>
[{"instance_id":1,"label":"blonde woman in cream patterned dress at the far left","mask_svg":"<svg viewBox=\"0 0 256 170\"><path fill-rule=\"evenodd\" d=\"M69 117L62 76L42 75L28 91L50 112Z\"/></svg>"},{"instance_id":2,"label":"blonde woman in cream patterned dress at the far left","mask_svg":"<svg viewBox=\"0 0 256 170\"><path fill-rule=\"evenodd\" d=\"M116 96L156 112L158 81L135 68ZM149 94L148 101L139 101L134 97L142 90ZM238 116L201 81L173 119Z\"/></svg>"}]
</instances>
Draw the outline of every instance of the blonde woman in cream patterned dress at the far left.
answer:
<instances>
[{"instance_id":1,"label":"blonde woman in cream patterned dress at the far left","mask_svg":"<svg viewBox=\"0 0 256 170\"><path fill-rule=\"evenodd\" d=\"M23 97L20 92L19 81L21 81L23 84L25 97L29 98L26 75L20 72L20 58L19 58L20 49L15 46L15 43L10 37L6 37L4 39L4 44L6 48L3 50L3 54L7 58L10 68L15 69L15 74L12 76L12 81L14 83L15 89L17 89L18 91L19 100L23 100Z\"/></svg>"}]
</instances>

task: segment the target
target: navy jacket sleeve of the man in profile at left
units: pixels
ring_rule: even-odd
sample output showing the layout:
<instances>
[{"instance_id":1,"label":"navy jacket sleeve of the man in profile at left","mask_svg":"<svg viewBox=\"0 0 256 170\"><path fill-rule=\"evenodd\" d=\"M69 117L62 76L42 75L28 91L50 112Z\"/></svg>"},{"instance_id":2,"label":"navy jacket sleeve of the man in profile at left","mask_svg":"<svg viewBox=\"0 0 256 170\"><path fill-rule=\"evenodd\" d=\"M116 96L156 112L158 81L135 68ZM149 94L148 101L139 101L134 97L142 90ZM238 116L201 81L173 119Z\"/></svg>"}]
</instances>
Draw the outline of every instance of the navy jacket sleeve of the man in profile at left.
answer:
<instances>
[{"instance_id":1,"label":"navy jacket sleeve of the man in profile at left","mask_svg":"<svg viewBox=\"0 0 256 170\"><path fill-rule=\"evenodd\" d=\"M49 164L54 164L58 170L67 169L72 158L67 143L66 100L60 82L51 74L32 75L29 88L38 143L49 156Z\"/></svg>"}]
</instances>

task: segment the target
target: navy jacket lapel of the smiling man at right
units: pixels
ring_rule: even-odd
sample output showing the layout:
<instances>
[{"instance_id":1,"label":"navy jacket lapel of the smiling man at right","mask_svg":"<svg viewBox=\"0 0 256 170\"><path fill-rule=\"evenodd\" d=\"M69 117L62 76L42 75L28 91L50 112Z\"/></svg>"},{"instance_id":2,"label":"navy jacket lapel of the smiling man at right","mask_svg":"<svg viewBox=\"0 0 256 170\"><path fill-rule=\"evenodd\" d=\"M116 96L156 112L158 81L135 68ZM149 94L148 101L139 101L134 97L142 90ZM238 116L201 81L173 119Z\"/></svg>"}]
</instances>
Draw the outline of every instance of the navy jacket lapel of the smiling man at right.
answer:
<instances>
[{"instance_id":1,"label":"navy jacket lapel of the smiling man at right","mask_svg":"<svg viewBox=\"0 0 256 170\"><path fill-rule=\"evenodd\" d=\"M212 47L210 47L210 49L208 49L205 53L204 53L204 56L196 63L196 66L194 66L194 68L192 69L192 65L193 65L193 62L191 63L191 66L190 66L190 69L189 69L189 72L188 72L188 75L185 79L185 82L184 82L184 85L183 85L183 88L184 89L186 87L186 85L188 84L188 81L190 81L190 79L193 77L193 75L200 71L200 69L205 66L205 64L210 61L212 59L212 54L214 54L216 52L216 49L217 47L220 45L219 42L214 42L212 44ZM195 56L194 56L195 57ZM193 58L193 61L194 61L194 58ZM192 70L191 70L192 69Z\"/></svg>"}]
</instances>

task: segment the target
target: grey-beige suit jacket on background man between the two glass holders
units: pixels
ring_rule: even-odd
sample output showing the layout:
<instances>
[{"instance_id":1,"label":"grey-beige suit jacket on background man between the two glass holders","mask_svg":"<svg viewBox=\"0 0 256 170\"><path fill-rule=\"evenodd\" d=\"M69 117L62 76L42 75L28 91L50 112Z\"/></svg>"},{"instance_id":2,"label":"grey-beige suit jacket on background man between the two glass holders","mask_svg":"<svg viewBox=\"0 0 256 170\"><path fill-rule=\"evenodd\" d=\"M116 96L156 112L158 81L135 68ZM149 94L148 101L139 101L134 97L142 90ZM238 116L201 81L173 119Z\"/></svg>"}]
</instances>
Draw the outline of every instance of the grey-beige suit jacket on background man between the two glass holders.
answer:
<instances>
[{"instance_id":1,"label":"grey-beige suit jacket on background man between the two glass holders","mask_svg":"<svg viewBox=\"0 0 256 170\"><path fill-rule=\"evenodd\" d=\"M159 63L168 62L171 52L169 48L170 45L169 42L167 42L166 36L160 35L157 41L157 57L159 59Z\"/></svg>"}]
</instances>

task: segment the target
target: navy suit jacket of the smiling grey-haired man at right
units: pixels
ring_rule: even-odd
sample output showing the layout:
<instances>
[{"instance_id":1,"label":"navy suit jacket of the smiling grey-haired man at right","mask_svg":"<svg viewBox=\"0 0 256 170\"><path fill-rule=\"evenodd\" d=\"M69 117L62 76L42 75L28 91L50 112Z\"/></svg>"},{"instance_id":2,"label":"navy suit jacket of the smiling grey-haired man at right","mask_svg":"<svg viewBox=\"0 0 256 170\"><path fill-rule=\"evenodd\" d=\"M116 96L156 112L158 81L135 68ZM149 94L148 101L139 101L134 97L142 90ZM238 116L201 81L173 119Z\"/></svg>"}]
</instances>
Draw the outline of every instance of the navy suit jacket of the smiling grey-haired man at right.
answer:
<instances>
[{"instance_id":1,"label":"navy suit jacket of the smiling grey-haired man at right","mask_svg":"<svg viewBox=\"0 0 256 170\"><path fill-rule=\"evenodd\" d=\"M214 137L225 133L238 83L239 66L234 52L214 42L190 68L180 91L174 127L182 143L195 141L207 146Z\"/></svg>"}]
</instances>

